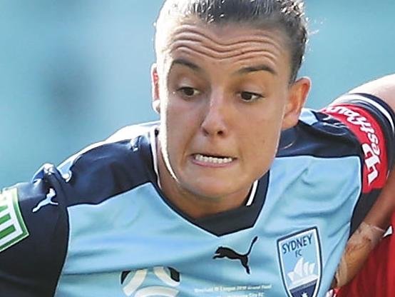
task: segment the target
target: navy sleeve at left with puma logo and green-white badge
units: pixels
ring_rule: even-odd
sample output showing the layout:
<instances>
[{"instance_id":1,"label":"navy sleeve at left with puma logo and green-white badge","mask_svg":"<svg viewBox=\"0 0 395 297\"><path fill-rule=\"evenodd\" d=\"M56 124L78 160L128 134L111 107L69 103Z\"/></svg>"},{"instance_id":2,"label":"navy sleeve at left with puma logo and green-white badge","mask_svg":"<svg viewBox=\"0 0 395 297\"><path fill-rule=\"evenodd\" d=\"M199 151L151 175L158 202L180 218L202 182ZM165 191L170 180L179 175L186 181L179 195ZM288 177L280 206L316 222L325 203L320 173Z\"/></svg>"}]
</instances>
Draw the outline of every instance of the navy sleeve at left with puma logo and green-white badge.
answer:
<instances>
[{"instance_id":1,"label":"navy sleeve at left with puma logo and green-white badge","mask_svg":"<svg viewBox=\"0 0 395 297\"><path fill-rule=\"evenodd\" d=\"M43 166L34 181L0 194L0 296L53 296L66 257L63 178Z\"/></svg>"}]
</instances>

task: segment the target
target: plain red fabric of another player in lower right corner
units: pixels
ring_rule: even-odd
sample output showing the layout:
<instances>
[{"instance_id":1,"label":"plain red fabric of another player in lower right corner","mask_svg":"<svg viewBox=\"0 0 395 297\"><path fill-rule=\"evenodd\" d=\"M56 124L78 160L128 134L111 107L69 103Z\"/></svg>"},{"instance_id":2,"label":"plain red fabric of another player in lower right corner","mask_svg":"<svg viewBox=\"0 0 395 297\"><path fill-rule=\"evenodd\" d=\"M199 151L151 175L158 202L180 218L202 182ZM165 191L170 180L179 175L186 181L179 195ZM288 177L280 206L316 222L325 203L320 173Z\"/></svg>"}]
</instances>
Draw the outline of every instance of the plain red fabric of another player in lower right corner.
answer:
<instances>
[{"instance_id":1,"label":"plain red fabric of another player in lower right corner","mask_svg":"<svg viewBox=\"0 0 395 297\"><path fill-rule=\"evenodd\" d=\"M395 226L395 213L392 216ZM395 235L386 236L371 252L362 270L337 297L395 296Z\"/></svg>"}]
</instances>

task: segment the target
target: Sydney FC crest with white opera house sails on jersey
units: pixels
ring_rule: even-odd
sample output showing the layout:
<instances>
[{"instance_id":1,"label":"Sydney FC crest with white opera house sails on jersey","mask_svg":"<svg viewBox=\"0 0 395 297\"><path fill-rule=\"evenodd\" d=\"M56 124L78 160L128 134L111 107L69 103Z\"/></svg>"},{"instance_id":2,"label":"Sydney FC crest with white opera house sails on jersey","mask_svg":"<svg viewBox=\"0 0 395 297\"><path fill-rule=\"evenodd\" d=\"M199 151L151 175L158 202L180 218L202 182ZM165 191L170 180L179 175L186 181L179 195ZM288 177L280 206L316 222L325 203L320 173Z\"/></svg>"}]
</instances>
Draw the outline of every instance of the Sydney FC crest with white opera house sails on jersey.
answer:
<instances>
[{"instance_id":1,"label":"Sydney FC crest with white opera house sails on jersey","mask_svg":"<svg viewBox=\"0 0 395 297\"><path fill-rule=\"evenodd\" d=\"M317 228L277 241L282 280L289 297L316 297L321 282L321 248Z\"/></svg>"}]
</instances>

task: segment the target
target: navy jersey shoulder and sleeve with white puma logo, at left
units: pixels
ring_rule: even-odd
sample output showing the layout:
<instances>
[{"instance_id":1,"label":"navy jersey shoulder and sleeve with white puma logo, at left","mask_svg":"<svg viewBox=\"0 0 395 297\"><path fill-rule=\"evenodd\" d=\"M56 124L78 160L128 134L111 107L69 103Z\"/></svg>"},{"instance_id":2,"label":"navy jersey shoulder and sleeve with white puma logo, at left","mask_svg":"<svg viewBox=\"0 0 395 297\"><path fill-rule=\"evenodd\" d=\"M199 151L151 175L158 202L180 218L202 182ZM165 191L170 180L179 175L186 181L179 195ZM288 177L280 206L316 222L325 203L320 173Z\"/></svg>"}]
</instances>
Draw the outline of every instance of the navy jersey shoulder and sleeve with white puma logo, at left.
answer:
<instances>
[{"instance_id":1,"label":"navy jersey shoulder and sleeve with white puma logo, at left","mask_svg":"<svg viewBox=\"0 0 395 297\"><path fill-rule=\"evenodd\" d=\"M128 127L121 139L88 146L58 167L45 164L32 181L0 192L1 292L53 296L70 248L71 206L102 203L149 181L153 129Z\"/></svg>"}]
</instances>

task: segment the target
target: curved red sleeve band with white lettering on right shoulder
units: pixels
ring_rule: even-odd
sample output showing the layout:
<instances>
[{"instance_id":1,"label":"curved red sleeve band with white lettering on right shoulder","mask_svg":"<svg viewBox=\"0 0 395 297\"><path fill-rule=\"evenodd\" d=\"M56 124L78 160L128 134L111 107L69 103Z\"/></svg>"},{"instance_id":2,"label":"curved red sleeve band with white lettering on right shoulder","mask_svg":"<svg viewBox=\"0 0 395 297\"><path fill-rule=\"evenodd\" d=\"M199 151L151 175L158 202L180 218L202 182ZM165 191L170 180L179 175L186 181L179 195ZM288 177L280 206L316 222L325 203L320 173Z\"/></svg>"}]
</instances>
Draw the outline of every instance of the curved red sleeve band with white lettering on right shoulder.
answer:
<instances>
[{"instance_id":1,"label":"curved red sleeve band with white lettering on right shoulder","mask_svg":"<svg viewBox=\"0 0 395 297\"><path fill-rule=\"evenodd\" d=\"M364 153L362 192L382 188L389 172L389 160L384 131L370 111L356 104L337 104L322 110L346 124L356 135Z\"/></svg>"}]
</instances>

